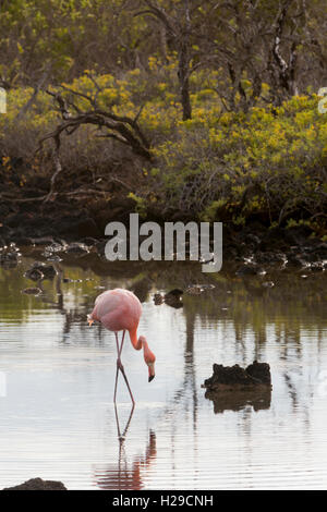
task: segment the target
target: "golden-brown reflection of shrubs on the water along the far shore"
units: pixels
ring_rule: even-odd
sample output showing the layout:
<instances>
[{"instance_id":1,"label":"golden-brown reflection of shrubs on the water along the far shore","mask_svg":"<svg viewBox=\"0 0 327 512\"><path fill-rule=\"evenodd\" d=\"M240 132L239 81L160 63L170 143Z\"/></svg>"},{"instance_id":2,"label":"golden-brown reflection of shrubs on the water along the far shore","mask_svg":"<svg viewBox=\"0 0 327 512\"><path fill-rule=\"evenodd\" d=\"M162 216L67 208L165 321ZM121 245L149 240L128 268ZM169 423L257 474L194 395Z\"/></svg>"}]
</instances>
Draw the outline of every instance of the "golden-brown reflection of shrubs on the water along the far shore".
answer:
<instances>
[{"instance_id":1,"label":"golden-brown reflection of shrubs on the water along the far shore","mask_svg":"<svg viewBox=\"0 0 327 512\"><path fill-rule=\"evenodd\" d=\"M44 281L43 295L32 297L21 293L31 285L23 275L32 261L25 258L14 269L0 269L2 320L25 321L38 310L58 308L66 315L64 329L69 332L70 324L81 319L106 288L129 288L145 302L157 290L213 283L216 288L199 296L184 294L185 315L196 316L202 325L217 319L231 320L237 338L251 328L262 343L266 340L266 326L274 324L277 337L282 337L288 330L292 340L300 341L301 329L310 328L313 318L318 337L322 334L319 327L326 325L325 273L313 273L303 279L300 273L275 271L269 277L240 278L233 270L205 275L197 264L110 264L88 255L59 264L62 276L57 276L53 281ZM60 277L72 281L62 283ZM267 280L275 282L275 287L264 288L263 282Z\"/></svg>"}]
</instances>

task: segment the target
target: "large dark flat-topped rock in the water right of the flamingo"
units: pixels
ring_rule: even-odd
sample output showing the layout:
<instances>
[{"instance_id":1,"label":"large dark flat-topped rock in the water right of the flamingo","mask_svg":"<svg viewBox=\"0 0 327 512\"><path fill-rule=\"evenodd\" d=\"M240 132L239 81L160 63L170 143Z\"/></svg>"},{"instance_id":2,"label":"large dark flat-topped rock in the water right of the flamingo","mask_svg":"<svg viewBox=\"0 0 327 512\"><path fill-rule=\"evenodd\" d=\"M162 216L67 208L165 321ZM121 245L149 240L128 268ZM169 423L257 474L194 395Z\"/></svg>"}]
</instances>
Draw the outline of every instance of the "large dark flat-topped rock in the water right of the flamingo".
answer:
<instances>
[{"instance_id":1,"label":"large dark flat-topped rock in the water right of the flamingo","mask_svg":"<svg viewBox=\"0 0 327 512\"><path fill-rule=\"evenodd\" d=\"M270 366L267 363L254 361L245 369L239 365L214 364L213 369L213 376L206 379L203 385L208 391L253 389L259 386L271 387Z\"/></svg>"}]
</instances>

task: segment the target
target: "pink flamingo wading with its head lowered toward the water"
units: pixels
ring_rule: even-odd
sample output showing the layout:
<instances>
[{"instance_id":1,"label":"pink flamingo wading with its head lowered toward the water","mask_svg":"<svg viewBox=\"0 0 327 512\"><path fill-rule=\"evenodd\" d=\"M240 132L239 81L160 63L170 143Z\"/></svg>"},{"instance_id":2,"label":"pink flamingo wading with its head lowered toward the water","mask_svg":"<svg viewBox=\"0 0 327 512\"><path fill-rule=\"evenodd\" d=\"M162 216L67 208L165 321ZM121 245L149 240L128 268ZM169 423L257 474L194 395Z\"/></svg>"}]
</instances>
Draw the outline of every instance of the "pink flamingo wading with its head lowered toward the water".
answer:
<instances>
[{"instance_id":1,"label":"pink flamingo wading with its head lowered toward the water","mask_svg":"<svg viewBox=\"0 0 327 512\"><path fill-rule=\"evenodd\" d=\"M113 402L116 403L117 382L119 370L122 373L126 382L133 407L135 405L134 397L131 391L124 367L121 363L121 352L124 343L125 331L130 333L132 345L135 350L143 349L144 361L148 366L148 381L155 378L155 354L149 350L144 336L137 340L137 327L142 315L142 305L136 295L129 290L108 290L97 296L95 306L90 315L87 316L88 324L100 321L109 331L113 331L117 344L117 371L114 382ZM123 331L121 344L118 341L118 331Z\"/></svg>"}]
</instances>

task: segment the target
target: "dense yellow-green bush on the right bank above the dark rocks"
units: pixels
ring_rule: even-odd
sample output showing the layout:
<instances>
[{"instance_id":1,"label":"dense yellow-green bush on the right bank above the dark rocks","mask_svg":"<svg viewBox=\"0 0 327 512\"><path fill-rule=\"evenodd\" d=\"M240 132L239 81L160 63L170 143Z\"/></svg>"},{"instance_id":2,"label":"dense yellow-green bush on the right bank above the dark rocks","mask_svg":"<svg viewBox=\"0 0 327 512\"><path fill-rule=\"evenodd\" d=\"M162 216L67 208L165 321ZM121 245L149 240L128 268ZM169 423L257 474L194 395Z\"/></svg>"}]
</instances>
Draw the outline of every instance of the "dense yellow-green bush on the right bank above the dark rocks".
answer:
<instances>
[{"instance_id":1,"label":"dense yellow-green bush on the right bank above the dark rocks","mask_svg":"<svg viewBox=\"0 0 327 512\"><path fill-rule=\"evenodd\" d=\"M315 95L247 114L205 108L154 149L166 206L205 220L225 210L235 223L326 211L327 115Z\"/></svg>"}]
</instances>

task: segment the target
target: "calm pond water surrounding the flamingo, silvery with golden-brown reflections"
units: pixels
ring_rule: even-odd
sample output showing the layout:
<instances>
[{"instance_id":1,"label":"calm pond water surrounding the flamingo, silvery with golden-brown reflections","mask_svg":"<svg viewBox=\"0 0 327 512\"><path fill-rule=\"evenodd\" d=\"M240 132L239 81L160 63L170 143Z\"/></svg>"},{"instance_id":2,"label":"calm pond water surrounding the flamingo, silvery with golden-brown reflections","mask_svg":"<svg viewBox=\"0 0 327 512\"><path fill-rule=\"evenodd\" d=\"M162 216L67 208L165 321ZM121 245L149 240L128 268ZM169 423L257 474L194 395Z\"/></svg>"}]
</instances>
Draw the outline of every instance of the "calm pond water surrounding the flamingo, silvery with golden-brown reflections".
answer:
<instances>
[{"instance_id":1,"label":"calm pond water surrounding the flamingo, silvery with golden-brown reflections","mask_svg":"<svg viewBox=\"0 0 327 512\"><path fill-rule=\"evenodd\" d=\"M326 273L209 276L196 264L86 256L61 261L35 297L21 293L35 285L24 278L34 260L0 268L0 488L37 476L70 489L327 487ZM180 308L154 304L154 292L191 283L216 288ZM86 324L96 295L114 287L141 297L140 334L157 356L148 383L142 354L124 345L136 407L123 444L114 338ZM205 398L214 362L255 358L270 364L270 397ZM122 381L119 402L123 431Z\"/></svg>"}]
</instances>

